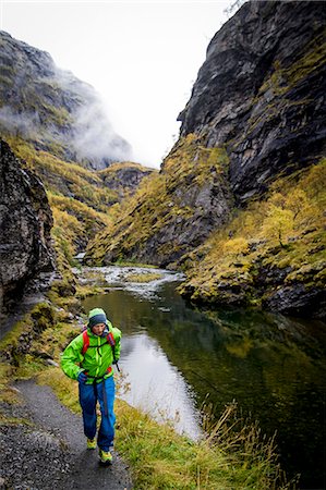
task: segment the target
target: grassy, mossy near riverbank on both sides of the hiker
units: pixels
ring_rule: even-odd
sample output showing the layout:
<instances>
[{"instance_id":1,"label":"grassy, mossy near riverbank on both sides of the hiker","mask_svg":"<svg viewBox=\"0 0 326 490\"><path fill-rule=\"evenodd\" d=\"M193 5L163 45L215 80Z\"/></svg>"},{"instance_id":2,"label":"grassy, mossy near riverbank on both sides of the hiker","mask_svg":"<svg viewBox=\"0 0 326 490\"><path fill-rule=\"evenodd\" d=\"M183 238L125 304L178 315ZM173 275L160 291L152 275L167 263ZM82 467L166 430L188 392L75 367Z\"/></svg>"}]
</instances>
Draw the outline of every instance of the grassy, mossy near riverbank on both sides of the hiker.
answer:
<instances>
[{"instance_id":1,"label":"grassy, mossy near riverbank on both sides of the hiker","mask_svg":"<svg viewBox=\"0 0 326 490\"><path fill-rule=\"evenodd\" d=\"M87 287L79 289L79 298L92 293ZM80 304L76 296L62 297L55 290L48 296L52 302L34 308L0 344L1 400L13 409L17 400L10 388L12 382L38 376L39 382L52 385L62 403L79 411L77 384L56 364L64 345L80 331ZM116 449L130 464L134 488L287 488L273 442L262 441L256 429L240 424L233 408L228 411L228 417L222 417L207 437L194 442L177 434L170 424L158 424L118 400ZM3 413L2 421L2 429L22 425L20 417ZM233 424L238 424L238 430L230 436ZM7 443L9 452L14 451L13 440ZM28 443L28 439L22 442ZM26 481L33 478L33 468L26 457Z\"/></svg>"}]
</instances>

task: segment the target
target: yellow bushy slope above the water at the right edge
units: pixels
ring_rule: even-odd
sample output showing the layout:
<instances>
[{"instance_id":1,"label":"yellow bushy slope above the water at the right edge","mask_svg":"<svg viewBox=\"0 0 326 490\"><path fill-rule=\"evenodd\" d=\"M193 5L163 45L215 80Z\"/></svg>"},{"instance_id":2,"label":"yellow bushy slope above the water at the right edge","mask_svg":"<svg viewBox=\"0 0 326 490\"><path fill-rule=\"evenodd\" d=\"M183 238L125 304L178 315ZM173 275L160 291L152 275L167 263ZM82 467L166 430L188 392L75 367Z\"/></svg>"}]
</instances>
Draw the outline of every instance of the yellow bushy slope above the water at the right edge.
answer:
<instances>
[{"instance_id":1,"label":"yellow bushy slope above the water at the right edge","mask_svg":"<svg viewBox=\"0 0 326 490\"><path fill-rule=\"evenodd\" d=\"M322 314L325 189L322 159L275 181L264 200L234 209L226 226L181 259L188 273L181 294L192 302L273 307L276 301L282 306L286 289L292 290L292 302L285 311L304 314L303 299L310 295L309 315Z\"/></svg>"}]
</instances>

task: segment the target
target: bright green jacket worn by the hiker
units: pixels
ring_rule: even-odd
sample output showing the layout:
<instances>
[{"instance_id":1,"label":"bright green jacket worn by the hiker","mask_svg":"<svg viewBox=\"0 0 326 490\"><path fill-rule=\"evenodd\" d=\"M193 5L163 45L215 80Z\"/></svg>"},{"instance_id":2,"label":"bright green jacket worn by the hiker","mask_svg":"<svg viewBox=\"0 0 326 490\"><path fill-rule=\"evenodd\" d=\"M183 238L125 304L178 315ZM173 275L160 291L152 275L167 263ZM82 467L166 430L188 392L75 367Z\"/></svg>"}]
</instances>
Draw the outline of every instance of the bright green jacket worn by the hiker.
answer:
<instances>
[{"instance_id":1,"label":"bright green jacket worn by the hiker","mask_svg":"<svg viewBox=\"0 0 326 490\"><path fill-rule=\"evenodd\" d=\"M116 329L108 322L110 332L113 334L116 345L114 355L116 360L120 357L120 340L121 331ZM61 356L61 368L63 372L72 379L77 379L81 371L85 371L89 376L89 381L92 383L94 378L108 378L113 375L113 370L108 368L113 363L113 353L110 344L107 343L107 339L102 336L95 335L92 333L90 329L87 329L89 338L89 347L82 354L84 341L83 333L76 336L63 351ZM90 378L93 377L93 378ZM98 382L100 379L98 380Z\"/></svg>"}]
</instances>

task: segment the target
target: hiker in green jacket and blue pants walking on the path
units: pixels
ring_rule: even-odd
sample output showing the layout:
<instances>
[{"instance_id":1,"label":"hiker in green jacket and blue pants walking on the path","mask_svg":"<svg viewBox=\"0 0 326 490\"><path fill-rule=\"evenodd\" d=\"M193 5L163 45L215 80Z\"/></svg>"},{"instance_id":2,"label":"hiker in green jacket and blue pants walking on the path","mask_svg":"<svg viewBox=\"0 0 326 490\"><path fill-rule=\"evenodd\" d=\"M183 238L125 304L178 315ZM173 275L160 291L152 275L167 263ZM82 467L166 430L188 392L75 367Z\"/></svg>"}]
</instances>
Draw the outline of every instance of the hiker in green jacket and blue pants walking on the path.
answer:
<instances>
[{"instance_id":1,"label":"hiker in green jacket and blue pants walking on the path","mask_svg":"<svg viewBox=\"0 0 326 490\"><path fill-rule=\"evenodd\" d=\"M110 449L116 422L112 364L120 357L120 330L112 327L101 308L95 308L88 314L87 329L65 347L61 357L63 372L80 383L80 404L89 450L96 449L96 403L99 402L101 421L97 445L104 464L112 463Z\"/></svg>"}]
</instances>

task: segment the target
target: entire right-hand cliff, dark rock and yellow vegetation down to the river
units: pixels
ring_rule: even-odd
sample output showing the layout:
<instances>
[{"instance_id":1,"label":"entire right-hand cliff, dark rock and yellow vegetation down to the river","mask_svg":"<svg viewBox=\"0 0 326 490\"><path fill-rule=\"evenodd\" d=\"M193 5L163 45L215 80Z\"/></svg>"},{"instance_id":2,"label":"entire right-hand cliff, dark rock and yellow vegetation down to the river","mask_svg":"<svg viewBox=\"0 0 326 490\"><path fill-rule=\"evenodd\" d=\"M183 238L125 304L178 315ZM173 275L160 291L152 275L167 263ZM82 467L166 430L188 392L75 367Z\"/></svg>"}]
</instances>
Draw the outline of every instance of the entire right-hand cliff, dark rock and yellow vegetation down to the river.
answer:
<instances>
[{"instance_id":1,"label":"entire right-hand cliff, dark rock and yellow vegetation down to the river","mask_svg":"<svg viewBox=\"0 0 326 490\"><path fill-rule=\"evenodd\" d=\"M325 15L254 1L222 26L159 176L89 260L182 265L193 302L324 315Z\"/></svg>"}]
</instances>

